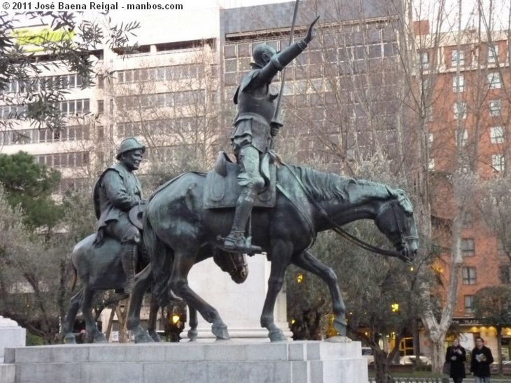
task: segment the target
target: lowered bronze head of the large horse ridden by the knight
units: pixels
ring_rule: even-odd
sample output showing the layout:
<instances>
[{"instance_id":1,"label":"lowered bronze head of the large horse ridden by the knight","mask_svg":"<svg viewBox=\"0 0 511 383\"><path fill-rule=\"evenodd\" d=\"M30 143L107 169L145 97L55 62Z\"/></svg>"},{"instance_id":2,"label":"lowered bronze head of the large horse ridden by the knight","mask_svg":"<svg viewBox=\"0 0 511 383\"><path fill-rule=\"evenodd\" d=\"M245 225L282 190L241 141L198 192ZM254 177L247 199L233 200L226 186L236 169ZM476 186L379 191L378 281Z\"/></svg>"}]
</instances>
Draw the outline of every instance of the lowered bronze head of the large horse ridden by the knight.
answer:
<instances>
[{"instance_id":1,"label":"lowered bronze head of the large horse ridden by the knight","mask_svg":"<svg viewBox=\"0 0 511 383\"><path fill-rule=\"evenodd\" d=\"M391 198L383 203L375 222L399 251L400 258L411 261L419 250L412 203L403 190L387 190Z\"/></svg>"}]
</instances>

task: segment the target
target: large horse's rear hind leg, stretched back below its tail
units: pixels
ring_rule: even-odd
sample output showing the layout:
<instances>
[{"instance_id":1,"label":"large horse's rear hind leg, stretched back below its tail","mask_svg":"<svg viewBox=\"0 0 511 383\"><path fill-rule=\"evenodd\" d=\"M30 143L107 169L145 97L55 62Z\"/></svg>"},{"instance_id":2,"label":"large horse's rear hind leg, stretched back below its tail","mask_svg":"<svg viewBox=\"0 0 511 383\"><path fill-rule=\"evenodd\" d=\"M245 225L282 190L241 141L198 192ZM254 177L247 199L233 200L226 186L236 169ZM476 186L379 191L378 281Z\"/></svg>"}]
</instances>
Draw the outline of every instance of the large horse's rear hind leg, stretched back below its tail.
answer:
<instances>
[{"instance_id":1,"label":"large horse's rear hind leg, stretched back below its tail","mask_svg":"<svg viewBox=\"0 0 511 383\"><path fill-rule=\"evenodd\" d=\"M146 330L140 324L140 309L142 308L142 301L144 293L147 291L153 280L151 264L147 265L144 270L138 273L135 277L135 283L128 306L127 327L133 331L135 336L135 343L153 342ZM151 305L152 305L151 300Z\"/></svg>"}]
</instances>

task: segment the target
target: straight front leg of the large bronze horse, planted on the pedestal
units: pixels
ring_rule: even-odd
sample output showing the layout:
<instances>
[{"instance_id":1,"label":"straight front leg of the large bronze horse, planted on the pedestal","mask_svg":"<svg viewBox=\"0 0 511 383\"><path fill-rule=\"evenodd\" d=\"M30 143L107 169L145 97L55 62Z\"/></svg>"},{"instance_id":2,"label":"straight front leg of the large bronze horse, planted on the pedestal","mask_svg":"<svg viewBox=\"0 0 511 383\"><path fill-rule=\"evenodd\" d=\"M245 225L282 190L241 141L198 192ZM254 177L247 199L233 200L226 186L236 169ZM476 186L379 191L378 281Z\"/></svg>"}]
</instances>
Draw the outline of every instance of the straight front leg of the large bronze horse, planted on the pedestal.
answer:
<instances>
[{"instance_id":1,"label":"straight front leg of the large bronze horse, planted on the pedestal","mask_svg":"<svg viewBox=\"0 0 511 383\"><path fill-rule=\"evenodd\" d=\"M277 240L272 246L268 292L266 293L263 313L261 314L261 327L266 327L268 329L268 336L271 342L287 341L283 331L275 325L273 311L277 295L284 285L284 276L286 274L286 268L289 265L291 252L292 245L283 240Z\"/></svg>"}]
</instances>

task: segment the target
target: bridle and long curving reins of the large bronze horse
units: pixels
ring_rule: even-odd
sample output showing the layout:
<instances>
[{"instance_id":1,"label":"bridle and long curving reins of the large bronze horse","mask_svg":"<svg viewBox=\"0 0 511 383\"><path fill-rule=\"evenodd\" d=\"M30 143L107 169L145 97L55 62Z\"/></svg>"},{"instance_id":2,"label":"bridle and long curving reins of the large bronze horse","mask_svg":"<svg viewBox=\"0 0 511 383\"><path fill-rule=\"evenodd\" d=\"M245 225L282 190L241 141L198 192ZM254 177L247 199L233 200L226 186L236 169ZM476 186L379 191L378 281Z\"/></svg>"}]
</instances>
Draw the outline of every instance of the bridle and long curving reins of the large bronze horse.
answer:
<instances>
[{"instance_id":1,"label":"bridle and long curving reins of the large bronze horse","mask_svg":"<svg viewBox=\"0 0 511 383\"><path fill-rule=\"evenodd\" d=\"M394 216L394 219L396 220L396 225L398 227L398 231L399 231L399 240L397 240L396 242L393 243L394 246L398 247L397 245L399 245L399 247L402 248L401 251L398 251L398 250L390 250L390 249L383 249L381 247L377 247L377 246L374 246L374 245L371 245L363 240L361 240L360 238L354 236L353 234L347 232L345 229L343 229L340 225L337 224L337 222L335 222L329 215L326 211L324 211L324 209L319 205L319 203L317 203L317 201L312 198L312 196L310 195L310 193L307 191L307 188L305 187L305 185L301 182L300 178L295 174L295 172L293 171L293 169L291 169L287 164L285 164L284 162L281 162L282 165L284 165L290 172L291 174L293 175L293 177L295 178L295 180L298 182L298 185L300 185L301 189L305 192L305 195L307 196L307 198L309 199L309 202L312 203L312 205L314 205L314 207L321 213L321 215L328 221L332 224L332 230L334 232L336 232L337 234L339 234L341 237L349 240L350 242L354 243L355 245L363 248L364 250L368 250L368 251L371 251L371 252L375 252L375 253L378 253L378 254L381 254L383 256L388 256L388 257L397 257L397 258L400 258L404 261L409 261L409 258L408 258L408 249L407 249L407 246L406 246L406 241L407 240L413 240L413 239L419 239L419 237L417 236L404 236L403 235L403 228L401 227L400 223L399 223L399 219L398 219L398 216L396 214L396 206L398 205L398 201L396 200L392 200L388 203L388 205L390 205L390 207L387 207L385 209L382 209L382 211L380 211L380 213L377 215L377 217L375 218L375 222L376 224L379 226L378 222L382 219L382 215L384 213L387 212L387 210L389 208L392 208L392 213L393 213L393 216ZM288 197L289 198L289 197ZM293 202L293 201L291 201ZM294 203L293 203L294 204ZM295 205L295 204L294 204ZM301 209L299 209L301 211ZM308 220L308 219L307 219ZM308 220L309 221L309 220ZM312 229L312 227L311 227Z\"/></svg>"}]
</instances>

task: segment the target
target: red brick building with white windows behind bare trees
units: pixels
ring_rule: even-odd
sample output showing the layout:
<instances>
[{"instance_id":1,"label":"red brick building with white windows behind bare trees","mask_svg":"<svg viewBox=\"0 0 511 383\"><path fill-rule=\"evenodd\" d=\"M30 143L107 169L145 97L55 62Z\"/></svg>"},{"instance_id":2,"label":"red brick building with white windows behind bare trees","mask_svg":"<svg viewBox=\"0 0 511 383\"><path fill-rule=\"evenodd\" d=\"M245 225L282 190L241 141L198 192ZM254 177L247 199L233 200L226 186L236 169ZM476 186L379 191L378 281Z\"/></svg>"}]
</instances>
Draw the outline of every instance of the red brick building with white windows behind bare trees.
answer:
<instances>
[{"instance_id":1,"label":"red brick building with white windows behind bare trees","mask_svg":"<svg viewBox=\"0 0 511 383\"><path fill-rule=\"evenodd\" d=\"M461 33L432 35L427 22L415 24L418 75L429 93L427 104L429 170L432 215L437 237L450 249L450 237L442 235L454 215L450 177L455 172L466 176L471 185L508 171L510 128L511 69L507 31L467 30ZM429 87L429 89L428 89ZM464 175L463 175L464 174ZM472 174L472 175L471 175ZM477 199L477 192L475 192ZM495 233L484 221L480 210L464 208L461 248L463 264L453 324L466 337L482 336L497 355L496 330L479 325L474 319L473 300L483 287L509 284L509 258L499 251ZM449 251L449 250L446 250ZM450 254L439 265L442 277L448 277ZM511 328L503 331L503 358L509 360Z\"/></svg>"}]
</instances>

